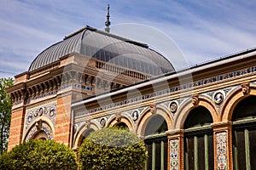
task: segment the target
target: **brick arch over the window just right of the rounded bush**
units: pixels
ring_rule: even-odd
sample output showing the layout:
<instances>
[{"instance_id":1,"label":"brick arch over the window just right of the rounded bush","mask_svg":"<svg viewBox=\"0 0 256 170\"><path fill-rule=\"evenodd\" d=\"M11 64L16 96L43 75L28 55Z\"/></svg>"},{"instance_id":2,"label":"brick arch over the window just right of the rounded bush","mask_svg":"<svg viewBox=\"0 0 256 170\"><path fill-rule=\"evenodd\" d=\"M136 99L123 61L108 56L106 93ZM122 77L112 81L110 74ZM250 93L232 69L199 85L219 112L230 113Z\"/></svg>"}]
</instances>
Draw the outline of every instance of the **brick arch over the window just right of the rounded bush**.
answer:
<instances>
[{"instance_id":1,"label":"brick arch over the window just right of the rounded bush","mask_svg":"<svg viewBox=\"0 0 256 170\"><path fill-rule=\"evenodd\" d=\"M161 105L156 105L155 111L152 111L150 107L143 111L142 115L139 117L137 121L137 134L143 136L145 133L145 129L148 125L149 120L155 116L155 115L160 115L164 117L167 123L167 129L170 130L173 125L173 119L170 111L167 111L164 106Z\"/></svg>"}]
</instances>

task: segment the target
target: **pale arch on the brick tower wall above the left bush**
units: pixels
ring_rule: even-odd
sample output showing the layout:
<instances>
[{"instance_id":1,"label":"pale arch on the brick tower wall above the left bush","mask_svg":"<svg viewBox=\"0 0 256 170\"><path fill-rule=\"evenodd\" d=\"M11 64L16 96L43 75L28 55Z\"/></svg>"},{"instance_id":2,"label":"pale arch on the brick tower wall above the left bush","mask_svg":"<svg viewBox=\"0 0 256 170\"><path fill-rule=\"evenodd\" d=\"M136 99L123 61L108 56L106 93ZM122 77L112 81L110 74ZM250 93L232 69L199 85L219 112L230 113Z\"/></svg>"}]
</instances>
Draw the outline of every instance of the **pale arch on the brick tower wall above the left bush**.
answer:
<instances>
[{"instance_id":1,"label":"pale arch on the brick tower wall above the left bush","mask_svg":"<svg viewBox=\"0 0 256 170\"><path fill-rule=\"evenodd\" d=\"M54 139L55 126L54 126L53 122L51 122L49 120L49 117L47 117L47 116L39 116L27 128L28 130L26 131L25 135L23 135L23 139L22 139L23 142L25 142L25 140L26 140L27 136L29 135L29 133L31 133L31 135L34 135L34 134L38 133L38 131L40 131L40 130L36 129L37 122L44 122L44 123L46 123L49 126L49 128L50 128L49 130L52 132L52 138ZM33 131L33 133L32 133L32 131Z\"/></svg>"}]
</instances>

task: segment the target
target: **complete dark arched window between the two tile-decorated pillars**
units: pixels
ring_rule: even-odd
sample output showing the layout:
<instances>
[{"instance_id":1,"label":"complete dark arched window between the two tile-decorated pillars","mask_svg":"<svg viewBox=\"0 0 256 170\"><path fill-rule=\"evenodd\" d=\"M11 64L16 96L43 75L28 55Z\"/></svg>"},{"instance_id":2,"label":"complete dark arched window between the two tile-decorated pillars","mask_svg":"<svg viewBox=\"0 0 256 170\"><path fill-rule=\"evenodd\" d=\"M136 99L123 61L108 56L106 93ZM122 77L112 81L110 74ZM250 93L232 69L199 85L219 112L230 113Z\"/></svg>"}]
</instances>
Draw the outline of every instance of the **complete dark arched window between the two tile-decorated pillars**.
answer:
<instances>
[{"instance_id":1,"label":"complete dark arched window between the two tile-decorated pillars","mask_svg":"<svg viewBox=\"0 0 256 170\"><path fill-rule=\"evenodd\" d=\"M205 107L189 112L184 122L184 167L187 170L214 168L211 113Z\"/></svg>"}]
</instances>

